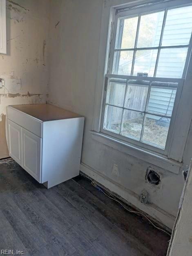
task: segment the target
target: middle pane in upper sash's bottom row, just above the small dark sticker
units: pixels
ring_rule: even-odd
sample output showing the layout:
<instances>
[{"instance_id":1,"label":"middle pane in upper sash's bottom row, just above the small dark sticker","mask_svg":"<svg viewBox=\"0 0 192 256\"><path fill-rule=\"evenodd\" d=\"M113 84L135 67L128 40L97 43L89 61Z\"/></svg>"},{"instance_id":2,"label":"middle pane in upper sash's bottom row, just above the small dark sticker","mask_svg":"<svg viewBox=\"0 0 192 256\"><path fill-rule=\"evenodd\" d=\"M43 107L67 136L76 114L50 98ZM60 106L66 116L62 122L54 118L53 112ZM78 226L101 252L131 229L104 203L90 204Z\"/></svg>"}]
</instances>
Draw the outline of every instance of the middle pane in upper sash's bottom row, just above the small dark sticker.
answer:
<instances>
[{"instance_id":1,"label":"middle pane in upper sash's bottom row, just above the small dark sticker","mask_svg":"<svg viewBox=\"0 0 192 256\"><path fill-rule=\"evenodd\" d=\"M158 50L137 50L135 55L133 75L147 73L147 76L154 76Z\"/></svg>"}]
</instances>

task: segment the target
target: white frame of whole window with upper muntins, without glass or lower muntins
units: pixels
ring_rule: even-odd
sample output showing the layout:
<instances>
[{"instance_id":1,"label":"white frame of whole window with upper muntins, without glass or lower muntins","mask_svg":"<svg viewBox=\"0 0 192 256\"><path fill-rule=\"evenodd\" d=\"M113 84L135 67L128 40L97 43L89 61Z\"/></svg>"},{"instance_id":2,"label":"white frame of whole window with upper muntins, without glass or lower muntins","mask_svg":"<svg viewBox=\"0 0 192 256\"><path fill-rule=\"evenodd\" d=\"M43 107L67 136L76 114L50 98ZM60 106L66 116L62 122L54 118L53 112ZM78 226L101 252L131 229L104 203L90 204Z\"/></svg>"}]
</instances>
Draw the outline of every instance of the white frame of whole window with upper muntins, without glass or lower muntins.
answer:
<instances>
[{"instance_id":1,"label":"white frame of whole window with upper muntins, without glass or lower muntins","mask_svg":"<svg viewBox=\"0 0 192 256\"><path fill-rule=\"evenodd\" d=\"M105 87L103 90L103 101L102 101L102 112L101 112L101 119L100 119L100 132L106 135L109 135L111 137L117 138L119 140L128 142L131 145L135 145L138 146L138 148L140 149L147 149L149 151L155 152L155 153L160 153L162 155L168 156L169 152L170 152L170 146L171 146L171 141L173 139L173 131L174 131L174 125L175 125L175 121L176 121L176 115L178 112L178 107L179 107L179 99L181 98L181 92L183 89L183 83L185 81L185 76L187 73L187 67L188 67L188 63L189 63L189 59L190 59L190 53L191 53L191 49L192 49L192 35L190 37L190 41L188 45L179 45L179 46L161 46L162 43L162 39L163 39L163 31L164 31L164 27L165 27L165 21L166 21L166 16L167 16L167 11L168 9L176 9L178 7L185 7L185 6L190 6L192 5L192 2L190 3L184 3L184 4L180 4L180 5L175 5L176 1L171 1L171 2L167 2L163 4L162 7L162 3L161 4L156 4L156 5L152 5L151 7L149 6L144 6L144 7L138 7L135 8L133 10L128 10L128 11L122 11L119 12L118 14L118 8L115 11L115 14L113 16L113 29L112 29L112 33L110 35L109 41L110 41L110 45L109 45L109 56L108 56L108 61L106 62L107 64L107 72L105 74ZM132 60L132 71L131 71L131 75L112 75L112 69L113 69L113 60L114 60L114 53L116 51L115 49L115 45L117 43L117 37L118 37L118 28L119 28L119 23L120 23L120 19L123 18L131 18L131 17L136 17L138 16L138 24L140 24L140 19L141 19L141 14L151 14L151 13L155 13L155 12L159 12L159 11L165 11L164 17L163 17L163 24L162 24L162 30L161 30L161 37L160 37L160 42L159 42L159 46L157 47L146 47L146 48L136 48L136 42L138 39L138 27L137 27L137 33L136 33L136 41L135 41L135 46L132 49L129 50L134 50L134 57ZM158 66L158 61L159 61L159 55L160 55L160 50L162 48L186 48L188 47L188 53L186 56L186 60L185 60L185 66L183 69L183 75L182 78L157 78L157 77L146 77L146 78L141 78L142 80L150 80L150 81L163 81L163 82L178 82L178 88L177 88L177 92L176 92L176 98L175 98L175 102L174 102L174 108L173 108L173 112L172 112L172 117L170 120L170 128L167 134L167 141L166 141L166 145L165 145L165 149L160 149L158 147L152 146L150 144L145 144L143 142L137 141L135 139L131 139L128 137L125 137L123 135L118 135L116 133L110 132L109 130L106 130L103 128L103 123L104 123L104 118L105 118L105 105L106 105L106 95L107 95L107 85L108 85L108 80L110 77L114 77L114 78L131 78L131 79L138 79L139 77L137 76L133 76L133 71L134 71L134 58L135 58L135 54L136 54L136 50L152 50L152 49L158 49L158 55L157 55L157 59L156 59L156 65L155 65L155 71L154 74L156 74L156 70L157 70L157 66ZM122 49L117 49L117 50L122 50ZM127 50L124 49L123 50ZM151 79L151 78L154 78Z\"/></svg>"}]
</instances>

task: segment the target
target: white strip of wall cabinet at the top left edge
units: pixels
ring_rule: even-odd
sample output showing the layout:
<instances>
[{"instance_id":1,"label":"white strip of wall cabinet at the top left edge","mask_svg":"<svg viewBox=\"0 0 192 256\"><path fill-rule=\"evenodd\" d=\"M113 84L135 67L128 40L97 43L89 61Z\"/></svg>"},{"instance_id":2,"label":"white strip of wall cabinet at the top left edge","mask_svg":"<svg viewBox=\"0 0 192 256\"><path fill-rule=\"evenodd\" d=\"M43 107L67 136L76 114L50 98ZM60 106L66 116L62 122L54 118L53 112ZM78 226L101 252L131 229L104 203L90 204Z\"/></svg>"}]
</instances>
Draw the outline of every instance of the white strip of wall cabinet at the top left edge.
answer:
<instances>
[{"instance_id":1,"label":"white strip of wall cabinet at the top left edge","mask_svg":"<svg viewBox=\"0 0 192 256\"><path fill-rule=\"evenodd\" d=\"M0 53L7 53L6 0L0 0Z\"/></svg>"}]
</instances>

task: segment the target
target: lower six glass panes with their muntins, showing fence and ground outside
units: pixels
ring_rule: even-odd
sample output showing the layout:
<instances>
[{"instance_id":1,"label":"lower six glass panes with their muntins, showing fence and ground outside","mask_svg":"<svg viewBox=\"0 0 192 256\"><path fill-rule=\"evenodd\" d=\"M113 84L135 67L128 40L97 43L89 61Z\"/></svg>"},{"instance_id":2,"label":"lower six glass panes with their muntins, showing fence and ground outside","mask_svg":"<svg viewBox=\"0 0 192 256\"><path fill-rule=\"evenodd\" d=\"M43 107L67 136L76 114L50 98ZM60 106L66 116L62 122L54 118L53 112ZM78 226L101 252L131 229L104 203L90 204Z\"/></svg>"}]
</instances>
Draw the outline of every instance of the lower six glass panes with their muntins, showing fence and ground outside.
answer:
<instances>
[{"instance_id":1,"label":"lower six glass panes with their muntins, showing fence and ground outside","mask_svg":"<svg viewBox=\"0 0 192 256\"><path fill-rule=\"evenodd\" d=\"M158 78L109 78L103 128L165 149L177 87L177 82L161 82Z\"/></svg>"}]
</instances>

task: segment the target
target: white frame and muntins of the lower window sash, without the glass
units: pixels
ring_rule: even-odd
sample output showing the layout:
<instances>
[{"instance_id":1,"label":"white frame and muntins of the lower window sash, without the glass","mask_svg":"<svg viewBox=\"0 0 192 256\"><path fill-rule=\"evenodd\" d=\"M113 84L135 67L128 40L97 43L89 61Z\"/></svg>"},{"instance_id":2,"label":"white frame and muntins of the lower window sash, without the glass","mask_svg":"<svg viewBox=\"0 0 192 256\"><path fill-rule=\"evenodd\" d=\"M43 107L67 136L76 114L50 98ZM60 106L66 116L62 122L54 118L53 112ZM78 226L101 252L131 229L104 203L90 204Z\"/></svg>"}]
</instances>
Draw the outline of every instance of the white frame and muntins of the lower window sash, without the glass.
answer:
<instances>
[{"instance_id":1,"label":"white frame and muntins of the lower window sash, without the glass","mask_svg":"<svg viewBox=\"0 0 192 256\"><path fill-rule=\"evenodd\" d=\"M148 89L148 94L147 94L147 102L146 102L146 105L145 105L145 110L144 111L140 111L140 110L135 110L135 109L124 107L124 105L123 105L123 107L119 107L117 105L112 105L112 104L106 103L107 87L108 87L110 78L118 78L118 79L120 78L120 79L124 79L124 80L127 80L127 81L128 80L147 80L147 81L149 81L150 84L149 84L149 89ZM138 76L132 76L132 75L113 75L113 74L107 74L106 78L105 78L105 90L104 90L104 94L103 94L103 108L102 108L102 119L101 119L100 132L105 133L105 134L107 134L107 135L109 135L111 137L116 137L117 139L119 139L121 141L128 142L128 143L136 145L136 146L138 146L140 148L147 149L149 151L160 153L160 154L163 154L163 155L168 155L169 147L170 147L170 142L171 142L171 139L172 139L172 133L173 133L173 129L174 129L174 121L176 119L176 114L177 114L177 110L178 110L178 107L179 107L179 99L181 98L181 92L182 92L182 89L183 89L184 81L185 80L182 79L182 78L154 78L154 77L144 78L144 77L138 77ZM151 112L147 111L147 104L148 104L148 101L149 101L150 87L151 87L152 82L172 82L172 83L178 83L178 86L176 87L177 91L176 91L176 97L175 97L175 101L174 101L174 106L173 106L173 111L172 111L171 117L163 115L163 114L155 114L155 113L151 113ZM165 88L164 86L159 86L159 87ZM127 82L126 82L126 88L127 88ZM125 94L126 94L126 90L125 90ZM170 126L169 126L169 130L168 130L168 134L167 134L167 141L166 141L166 144L165 144L165 149L162 149L162 148L156 147L156 146L152 146L152 144L150 144L150 143L146 143L146 142L144 143L144 142L142 142L140 140L132 139L130 137L126 137L124 135L117 134L117 133L114 133L114 132L112 132L110 130L107 130L107 129L103 128L104 121L105 121L105 106L106 105L111 105L111 106L114 106L114 107L119 107L119 108L123 109L123 111L124 110L133 110L133 111L137 111L137 112L142 112L142 113L145 114L145 116L146 116L146 114L150 114L150 115L154 115L154 116L170 118ZM121 126L123 124L122 121L123 121L123 114L122 114ZM143 124L144 124L144 121L145 120L143 119ZM143 134L143 129L144 129L144 125L142 126L142 131L141 131L142 134ZM141 138L142 138L142 134L141 134Z\"/></svg>"}]
</instances>

